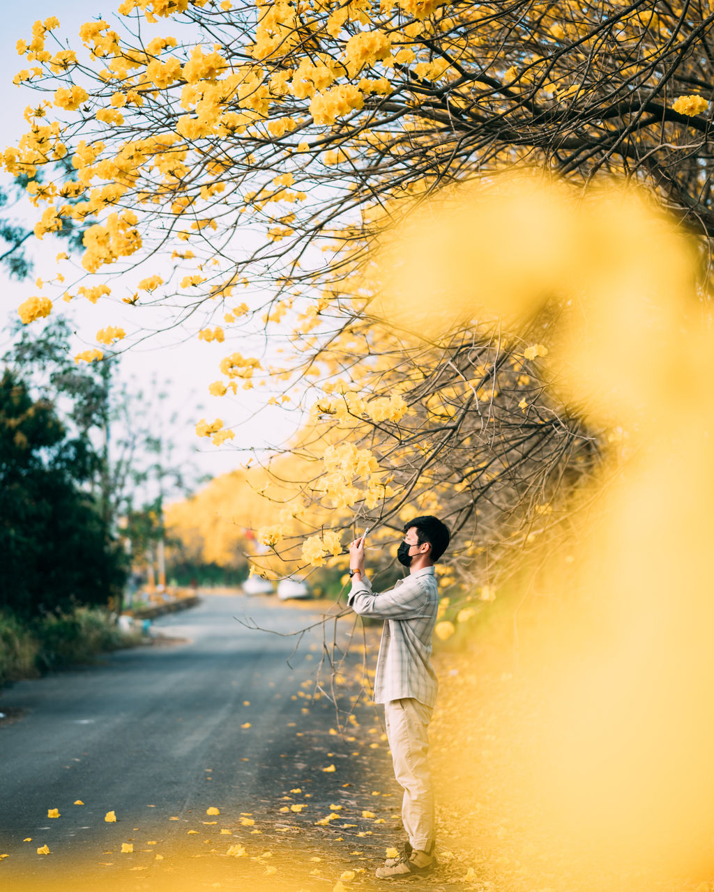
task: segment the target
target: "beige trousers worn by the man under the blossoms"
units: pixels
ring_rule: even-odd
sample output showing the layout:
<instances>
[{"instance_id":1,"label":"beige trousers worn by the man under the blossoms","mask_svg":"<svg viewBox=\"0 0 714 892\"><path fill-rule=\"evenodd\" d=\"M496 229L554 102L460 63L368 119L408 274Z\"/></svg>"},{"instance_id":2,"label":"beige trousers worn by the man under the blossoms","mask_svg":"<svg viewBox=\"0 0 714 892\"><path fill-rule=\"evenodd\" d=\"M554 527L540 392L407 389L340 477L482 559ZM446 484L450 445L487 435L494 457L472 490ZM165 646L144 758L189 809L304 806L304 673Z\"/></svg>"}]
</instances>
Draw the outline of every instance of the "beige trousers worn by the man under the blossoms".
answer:
<instances>
[{"instance_id":1,"label":"beige trousers worn by the man under the blossoms","mask_svg":"<svg viewBox=\"0 0 714 892\"><path fill-rule=\"evenodd\" d=\"M428 851L434 842L434 793L428 760L432 709L408 697L385 704L386 736L394 777L404 789L402 821L413 848Z\"/></svg>"}]
</instances>

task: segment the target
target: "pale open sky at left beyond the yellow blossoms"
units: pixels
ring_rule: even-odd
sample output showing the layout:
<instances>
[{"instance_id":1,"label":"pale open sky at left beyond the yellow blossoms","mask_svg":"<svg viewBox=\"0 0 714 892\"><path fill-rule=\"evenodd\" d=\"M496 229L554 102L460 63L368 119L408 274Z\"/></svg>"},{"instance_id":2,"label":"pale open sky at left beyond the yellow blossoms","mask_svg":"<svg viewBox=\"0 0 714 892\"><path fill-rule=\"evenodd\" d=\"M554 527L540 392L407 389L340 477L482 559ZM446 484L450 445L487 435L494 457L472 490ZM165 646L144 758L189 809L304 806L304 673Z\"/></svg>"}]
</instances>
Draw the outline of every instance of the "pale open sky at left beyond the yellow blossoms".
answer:
<instances>
[{"instance_id":1,"label":"pale open sky at left beyond the yellow blossoms","mask_svg":"<svg viewBox=\"0 0 714 892\"><path fill-rule=\"evenodd\" d=\"M79 45L77 37L79 26L91 19L103 17L112 21L120 0L34 0L29 6L20 3L4 4L2 50L0 53L0 78L3 89L3 116L0 125L2 140L0 145L15 145L18 138L27 129L27 122L22 114L25 107L33 102L36 95L26 87L15 87L12 78L27 67L21 56L17 54L15 44L18 39L29 40L32 24L37 19L45 20L56 15L61 28L55 33L62 39L70 38L73 47ZM164 28L165 28L165 22ZM7 175L0 173L0 180L8 182ZM25 224L32 225L40 211L30 205L26 211L18 211L15 216ZM25 282L14 282L4 272L0 272L0 321L3 334L0 335L0 354L9 343L6 322L16 318L17 306L32 294L37 293L35 279L54 274L57 268L55 256L65 249L65 245L52 236L46 235L42 243L32 240L29 254L34 260L31 277ZM192 269L191 272L194 270ZM112 325L121 325L127 310L114 304L111 320L107 319L106 310L100 303L95 306L88 301L72 301L68 305L71 319L77 332L78 350L94 346L94 333L97 328L105 326L108 321ZM55 304L56 306L56 304ZM65 308L62 307L64 311ZM158 322L157 322L158 324ZM33 323L42 325L42 323ZM136 327L133 320L127 321L127 331ZM200 451L195 460L204 475L218 475L233 470L248 458L248 453L241 450L266 450L285 442L299 424L300 418L295 410L278 407L265 407L255 417L260 408L260 397L255 392L239 392L239 396L217 398L208 393L208 385L220 377L218 363L227 350L225 345L198 342L195 337L186 340L185 335L160 335L125 353L121 359L121 376L134 380L139 386L145 386L152 378L166 382L169 392L169 403L179 410L182 417L187 418L184 448L193 449L196 445ZM262 394L264 399L264 393ZM194 425L200 418L212 421L215 417L225 419L226 425L236 425L235 445L228 443L217 449L207 440L198 440ZM180 434L179 434L180 435Z\"/></svg>"}]
</instances>

